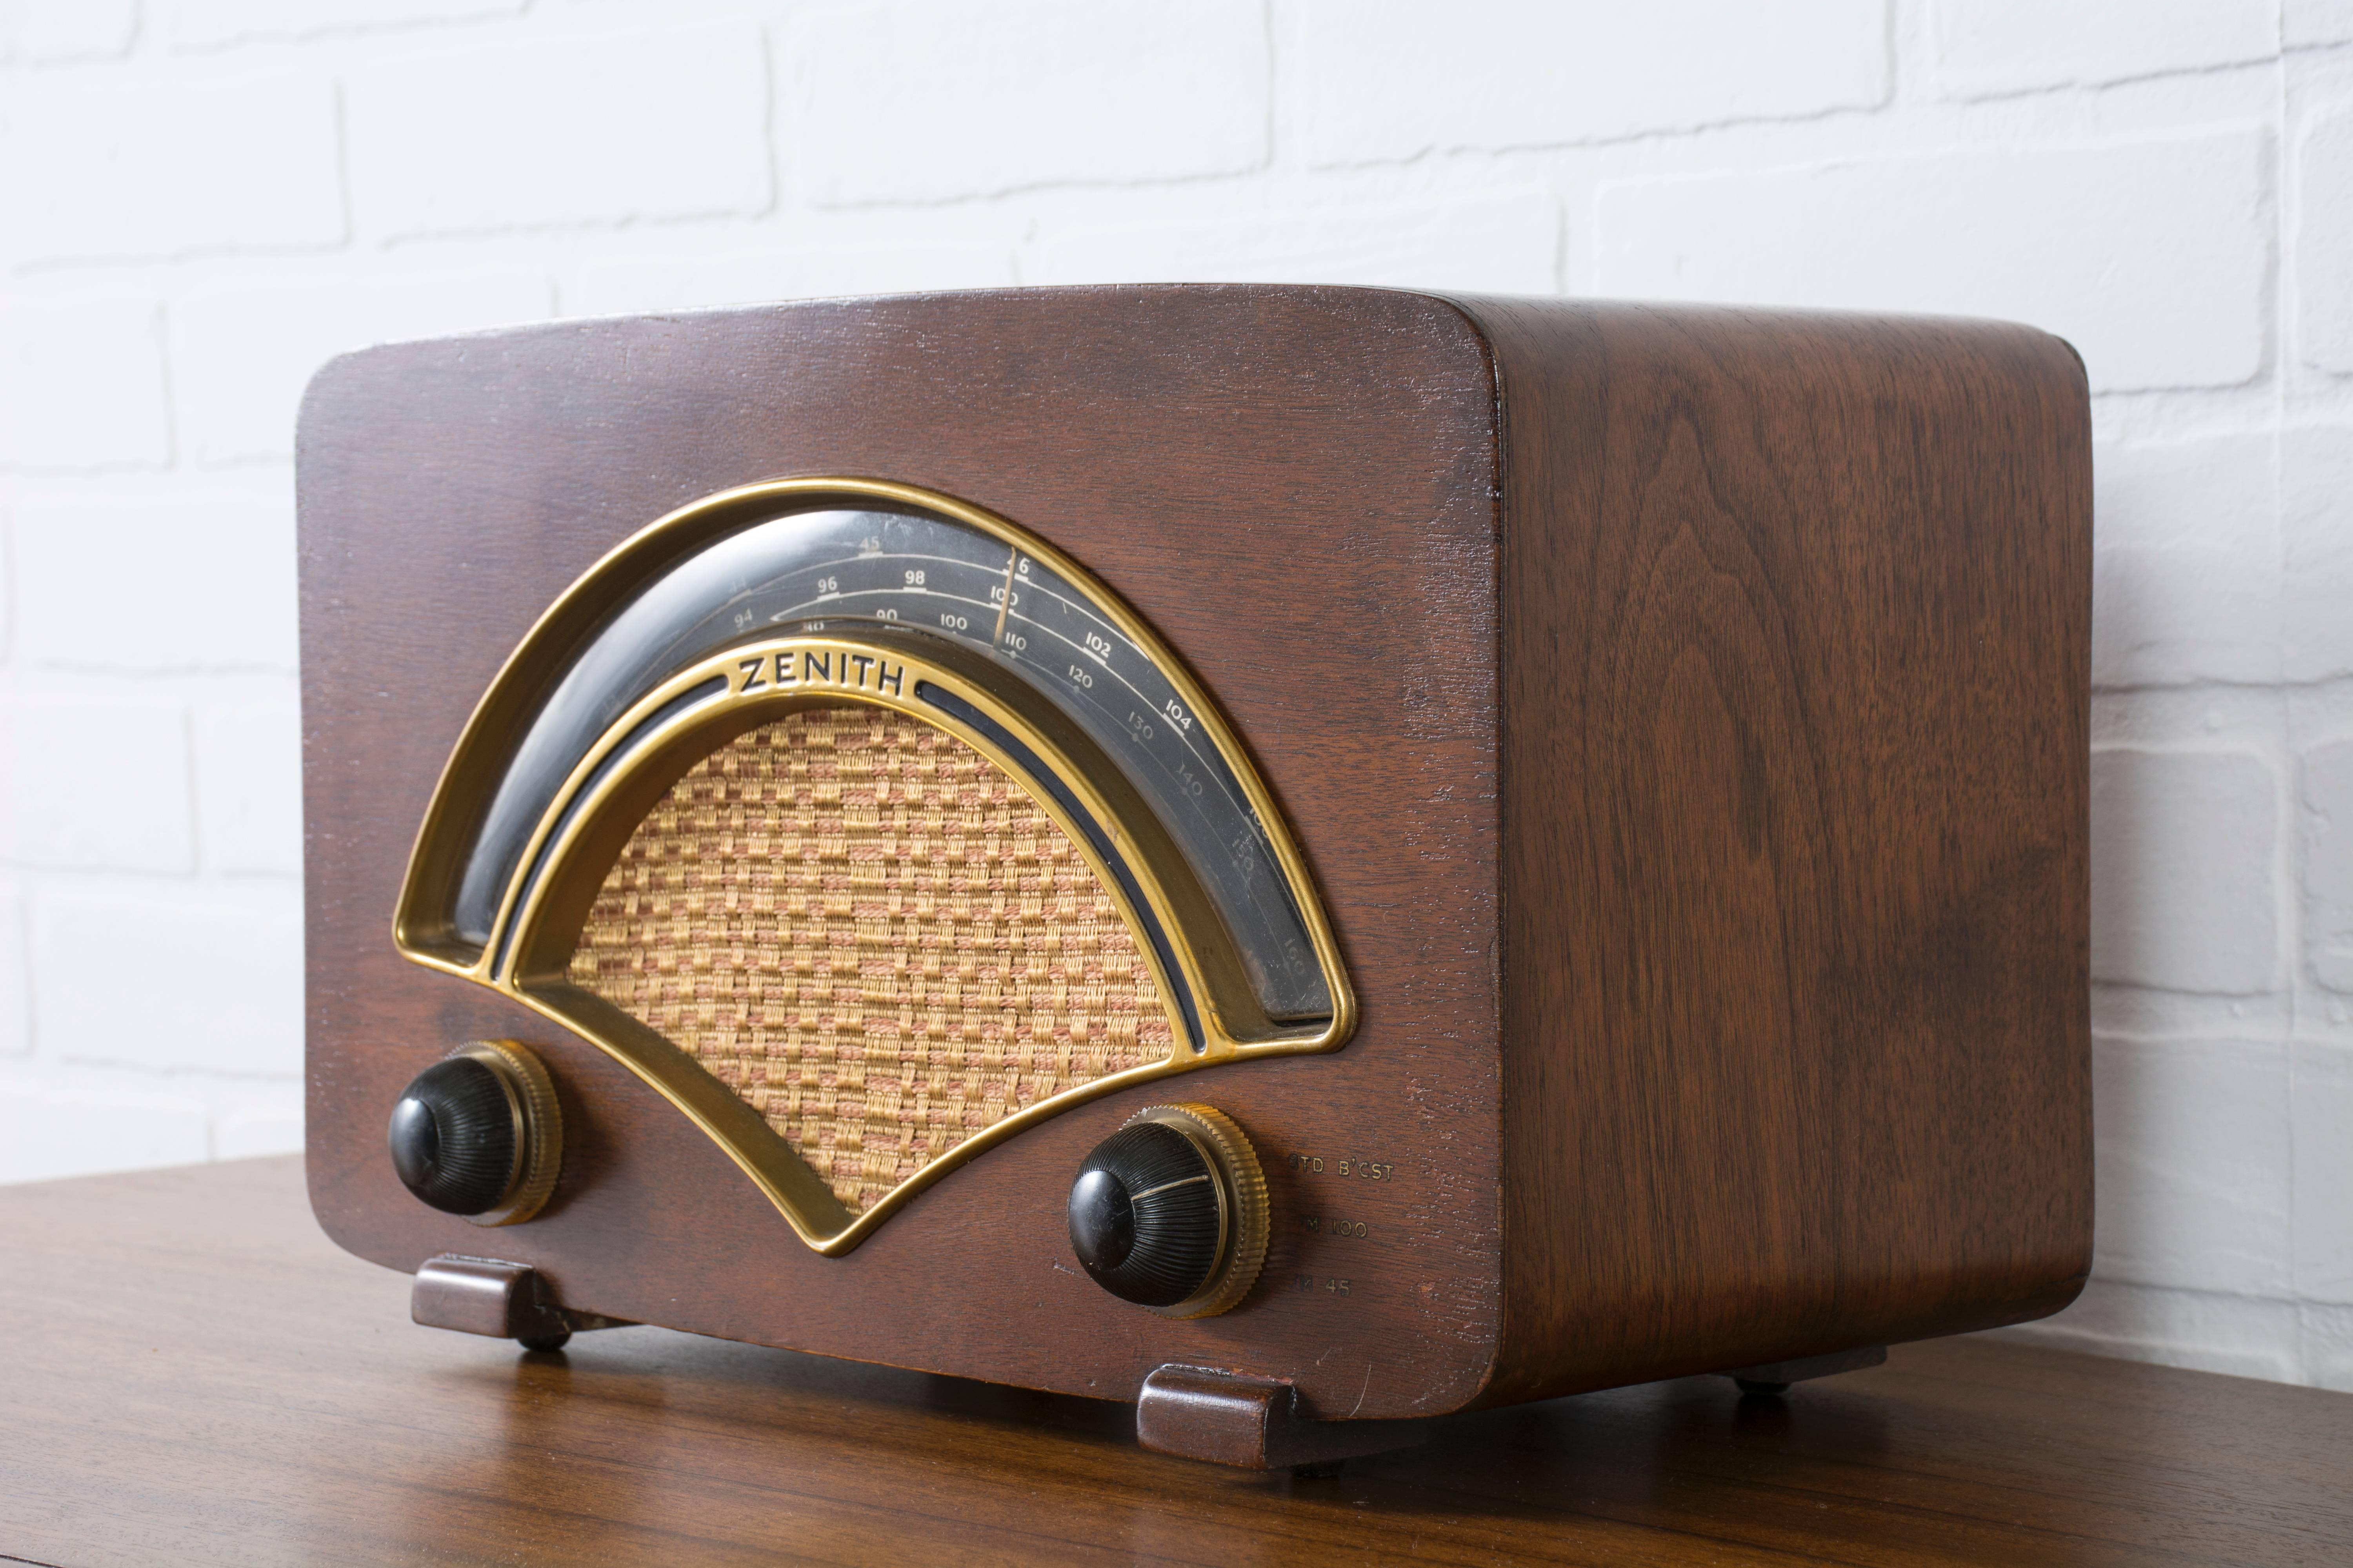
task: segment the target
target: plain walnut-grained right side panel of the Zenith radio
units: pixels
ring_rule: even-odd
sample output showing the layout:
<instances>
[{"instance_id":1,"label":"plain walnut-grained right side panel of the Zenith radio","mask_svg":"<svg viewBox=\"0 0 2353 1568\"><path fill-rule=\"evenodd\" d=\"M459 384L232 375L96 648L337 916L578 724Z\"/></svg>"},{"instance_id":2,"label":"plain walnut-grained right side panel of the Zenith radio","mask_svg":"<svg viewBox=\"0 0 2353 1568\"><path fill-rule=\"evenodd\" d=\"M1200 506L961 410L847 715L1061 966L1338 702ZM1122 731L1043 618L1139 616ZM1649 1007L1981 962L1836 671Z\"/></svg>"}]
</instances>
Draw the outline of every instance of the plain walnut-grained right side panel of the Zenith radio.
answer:
<instances>
[{"instance_id":1,"label":"plain walnut-grained right side panel of the Zenith radio","mask_svg":"<svg viewBox=\"0 0 2353 1568\"><path fill-rule=\"evenodd\" d=\"M1466 308L1506 402L1487 1399L2057 1312L2092 1251L2080 362Z\"/></svg>"}]
</instances>

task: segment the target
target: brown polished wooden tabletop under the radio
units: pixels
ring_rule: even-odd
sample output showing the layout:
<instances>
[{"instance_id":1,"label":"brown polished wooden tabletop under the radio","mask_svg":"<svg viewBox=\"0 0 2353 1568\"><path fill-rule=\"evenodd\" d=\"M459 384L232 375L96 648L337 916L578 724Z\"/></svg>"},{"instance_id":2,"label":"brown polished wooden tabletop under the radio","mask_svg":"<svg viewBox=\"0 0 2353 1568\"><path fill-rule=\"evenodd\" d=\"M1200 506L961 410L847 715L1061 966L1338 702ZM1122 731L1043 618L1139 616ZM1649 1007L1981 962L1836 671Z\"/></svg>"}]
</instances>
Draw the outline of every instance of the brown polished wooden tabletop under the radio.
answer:
<instances>
[{"instance_id":1,"label":"brown polished wooden tabletop under the radio","mask_svg":"<svg viewBox=\"0 0 2353 1568\"><path fill-rule=\"evenodd\" d=\"M407 1321L301 1164L0 1190L0 1559L2353 1563L2353 1396L1986 1340L1468 1415L1339 1479L1129 1406L614 1328Z\"/></svg>"}]
</instances>

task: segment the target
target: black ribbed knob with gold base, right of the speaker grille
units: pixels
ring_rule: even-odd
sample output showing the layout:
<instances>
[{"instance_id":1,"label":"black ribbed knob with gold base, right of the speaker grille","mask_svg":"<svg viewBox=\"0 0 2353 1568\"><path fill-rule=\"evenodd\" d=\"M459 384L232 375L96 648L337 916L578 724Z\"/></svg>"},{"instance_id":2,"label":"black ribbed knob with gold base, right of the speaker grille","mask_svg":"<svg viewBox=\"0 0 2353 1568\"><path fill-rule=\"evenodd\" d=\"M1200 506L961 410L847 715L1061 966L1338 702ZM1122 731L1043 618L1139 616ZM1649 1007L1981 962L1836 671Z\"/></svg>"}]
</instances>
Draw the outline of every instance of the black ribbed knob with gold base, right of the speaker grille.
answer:
<instances>
[{"instance_id":1,"label":"black ribbed knob with gold base, right of the speaker grille","mask_svg":"<svg viewBox=\"0 0 2353 1568\"><path fill-rule=\"evenodd\" d=\"M1151 1105L1094 1145L1071 1182L1071 1251L1087 1276L1160 1316L1217 1316L1266 1262L1266 1175L1207 1105Z\"/></svg>"}]
</instances>

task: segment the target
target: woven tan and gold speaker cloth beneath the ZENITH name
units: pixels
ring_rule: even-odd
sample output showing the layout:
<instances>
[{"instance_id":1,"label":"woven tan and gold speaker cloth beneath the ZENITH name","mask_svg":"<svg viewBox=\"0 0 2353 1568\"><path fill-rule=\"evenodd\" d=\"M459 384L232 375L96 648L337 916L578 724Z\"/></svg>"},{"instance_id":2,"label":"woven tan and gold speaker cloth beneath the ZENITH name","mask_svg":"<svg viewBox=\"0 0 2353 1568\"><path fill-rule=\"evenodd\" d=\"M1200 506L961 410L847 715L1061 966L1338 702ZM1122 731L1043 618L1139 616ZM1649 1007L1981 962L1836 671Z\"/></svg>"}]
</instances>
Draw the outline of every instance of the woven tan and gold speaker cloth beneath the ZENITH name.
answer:
<instances>
[{"instance_id":1,"label":"woven tan and gold speaker cloth beneath the ZENITH name","mask_svg":"<svg viewBox=\"0 0 2353 1568\"><path fill-rule=\"evenodd\" d=\"M1078 846L976 750L882 708L802 710L694 764L605 879L572 983L694 1056L852 1213L1172 1046Z\"/></svg>"}]
</instances>

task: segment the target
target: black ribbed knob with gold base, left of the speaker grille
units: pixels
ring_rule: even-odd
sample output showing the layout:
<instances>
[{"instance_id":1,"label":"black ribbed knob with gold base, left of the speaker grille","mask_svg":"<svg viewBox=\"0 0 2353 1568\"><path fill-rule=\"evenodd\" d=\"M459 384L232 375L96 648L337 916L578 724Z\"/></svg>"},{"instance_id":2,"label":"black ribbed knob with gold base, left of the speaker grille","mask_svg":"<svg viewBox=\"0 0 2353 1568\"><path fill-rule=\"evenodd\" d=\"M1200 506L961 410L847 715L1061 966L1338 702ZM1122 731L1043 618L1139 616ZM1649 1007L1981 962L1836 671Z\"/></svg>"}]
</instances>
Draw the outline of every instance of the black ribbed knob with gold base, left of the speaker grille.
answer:
<instances>
[{"instance_id":1,"label":"black ribbed knob with gold base, left of the speaker grille","mask_svg":"<svg viewBox=\"0 0 2353 1568\"><path fill-rule=\"evenodd\" d=\"M400 1185L475 1225L529 1220L555 1192L555 1084L522 1046L459 1046L400 1091L386 1133Z\"/></svg>"}]
</instances>

